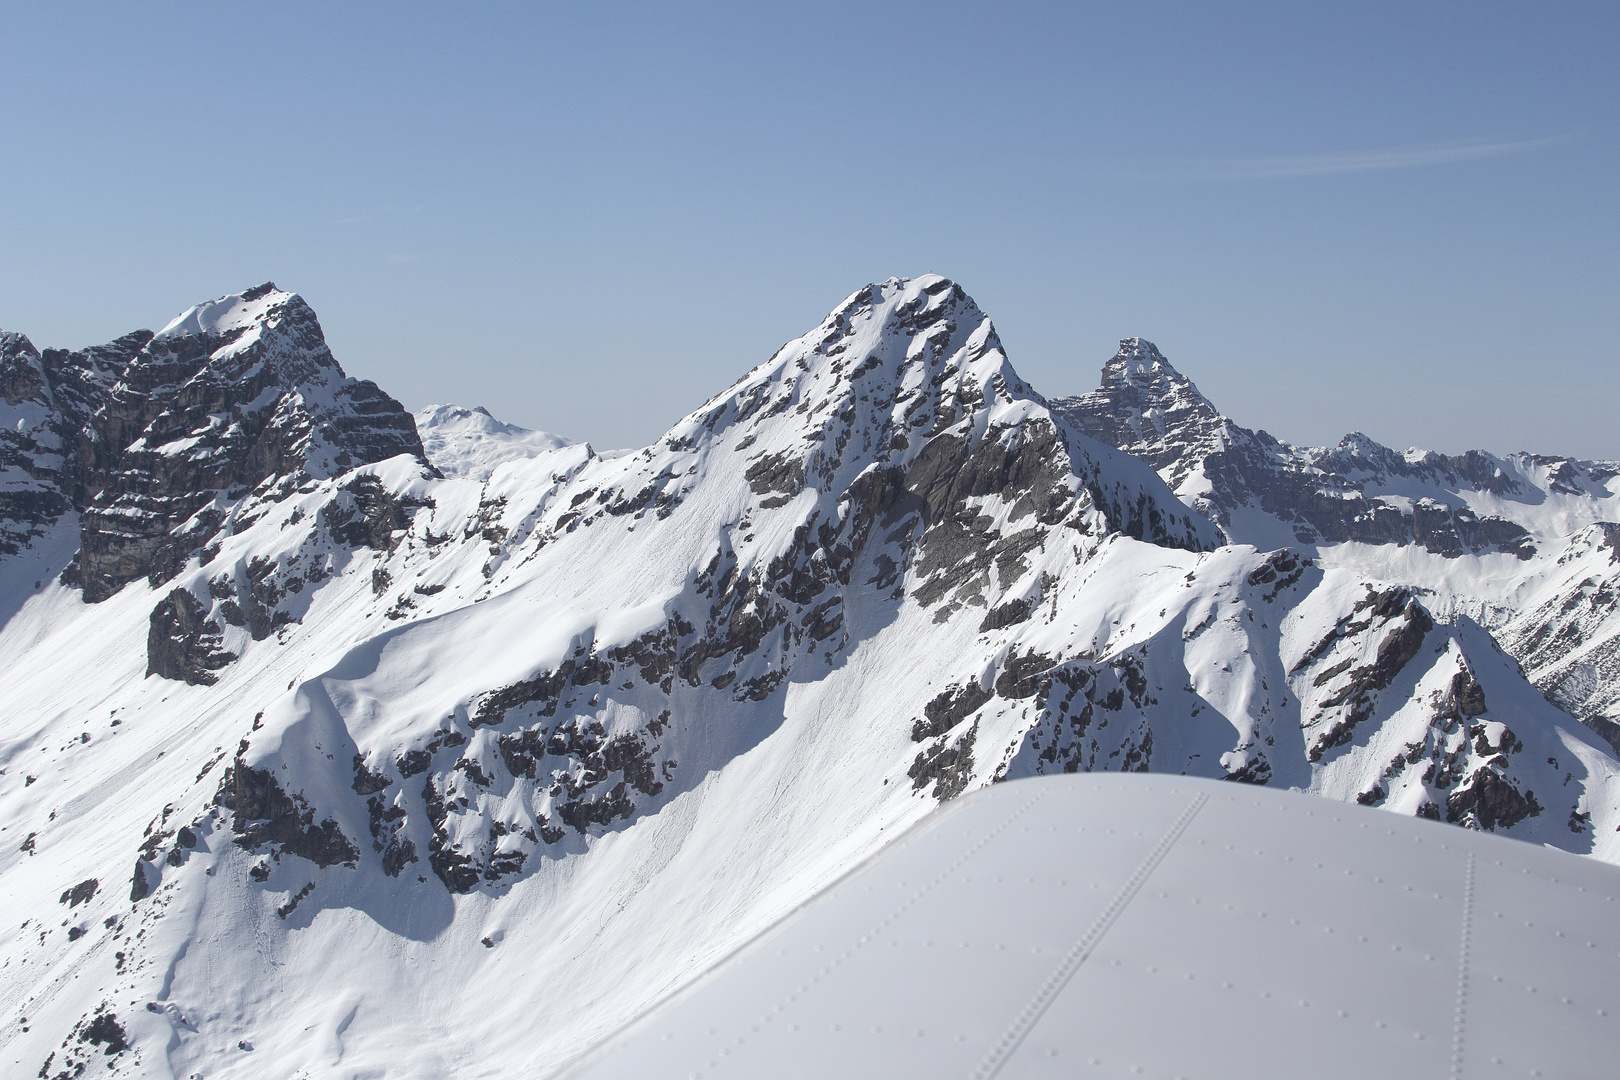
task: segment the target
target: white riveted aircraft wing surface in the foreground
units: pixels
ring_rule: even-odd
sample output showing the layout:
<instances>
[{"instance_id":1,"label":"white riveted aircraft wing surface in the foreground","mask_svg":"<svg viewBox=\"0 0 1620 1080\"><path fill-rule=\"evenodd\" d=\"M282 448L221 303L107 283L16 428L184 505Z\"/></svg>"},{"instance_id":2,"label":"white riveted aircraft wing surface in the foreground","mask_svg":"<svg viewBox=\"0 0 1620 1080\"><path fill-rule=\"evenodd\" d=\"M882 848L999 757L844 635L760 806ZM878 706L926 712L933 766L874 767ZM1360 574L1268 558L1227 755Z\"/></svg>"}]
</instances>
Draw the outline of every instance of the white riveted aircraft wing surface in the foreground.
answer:
<instances>
[{"instance_id":1,"label":"white riveted aircraft wing surface in the foreground","mask_svg":"<svg viewBox=\"0 0 1620 1080\"><path fill-rule=\"evenodd\" d=\"M1298 793L995 785L588 1054L609 1077L1609 1077L1620 870Z\"/></svg>"}]
</instances>

